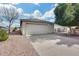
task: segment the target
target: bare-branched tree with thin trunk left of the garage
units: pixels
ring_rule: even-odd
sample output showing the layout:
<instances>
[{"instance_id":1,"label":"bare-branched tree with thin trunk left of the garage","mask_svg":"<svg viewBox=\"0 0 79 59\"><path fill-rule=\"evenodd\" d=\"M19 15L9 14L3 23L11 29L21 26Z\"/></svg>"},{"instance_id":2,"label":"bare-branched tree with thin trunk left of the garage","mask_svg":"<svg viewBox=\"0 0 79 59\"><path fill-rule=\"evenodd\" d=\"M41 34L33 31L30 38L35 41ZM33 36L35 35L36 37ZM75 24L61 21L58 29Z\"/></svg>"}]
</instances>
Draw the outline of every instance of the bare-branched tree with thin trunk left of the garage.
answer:
<instances>
[{"instance_id":1,"label":"bare-branched tree with thin trunk left of the garage","mask_svg":"<svg viewBox=\"0 0 79 59\"><path fill-rule=\"evenodd\" d=\"M11 25L19 17L19 10L11 4L0 4L0 16L9 22L9 33Z\"/></svg>"}]
</instances>

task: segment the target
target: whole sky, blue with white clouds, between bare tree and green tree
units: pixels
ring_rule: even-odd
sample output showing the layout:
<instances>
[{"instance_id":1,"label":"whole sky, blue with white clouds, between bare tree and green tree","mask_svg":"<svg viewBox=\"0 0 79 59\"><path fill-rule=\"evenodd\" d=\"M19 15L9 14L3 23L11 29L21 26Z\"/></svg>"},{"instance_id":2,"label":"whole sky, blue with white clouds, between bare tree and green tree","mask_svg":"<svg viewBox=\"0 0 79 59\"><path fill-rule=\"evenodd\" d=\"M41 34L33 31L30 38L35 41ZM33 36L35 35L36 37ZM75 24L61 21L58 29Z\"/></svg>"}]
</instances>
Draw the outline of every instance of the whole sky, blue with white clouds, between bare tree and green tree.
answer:
<instances>
[{"instance_id":1,"label":"whole sky, blue with white clouds, between bare tree and green tree","mask_svg":"<svg viewBox=\"0 0 79 59\"><path fill-rule=\"evenodd\" d=\"M57 4L54 3L17 3L14 4L17 9L20 9L23 14L20 18L39 18L54 22L54 9ZM3 22L7 26L6 22ZM20 26L20 20L16 20L13 26Z\"/></svg>"}]
</instances>

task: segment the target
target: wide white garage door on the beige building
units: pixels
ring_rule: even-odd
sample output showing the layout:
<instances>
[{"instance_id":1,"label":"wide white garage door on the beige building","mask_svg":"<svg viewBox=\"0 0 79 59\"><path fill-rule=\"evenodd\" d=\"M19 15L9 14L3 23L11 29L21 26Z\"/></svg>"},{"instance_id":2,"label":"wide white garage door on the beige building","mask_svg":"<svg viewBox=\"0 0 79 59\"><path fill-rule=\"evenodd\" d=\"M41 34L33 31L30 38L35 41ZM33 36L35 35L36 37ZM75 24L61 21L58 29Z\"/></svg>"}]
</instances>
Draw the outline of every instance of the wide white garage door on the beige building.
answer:
<instances>
[{"instance_id":1,"label":"wide white garage door on the beige building","mask_svg":"<svg viewBox=\"0 0 79 59\"><path fill-rule=\"evenodd\" d=\"M37 24L27 24L24 28L25 34L45 34L52 33L53 25L37 25Z\"/></svg>"}]
</instances>

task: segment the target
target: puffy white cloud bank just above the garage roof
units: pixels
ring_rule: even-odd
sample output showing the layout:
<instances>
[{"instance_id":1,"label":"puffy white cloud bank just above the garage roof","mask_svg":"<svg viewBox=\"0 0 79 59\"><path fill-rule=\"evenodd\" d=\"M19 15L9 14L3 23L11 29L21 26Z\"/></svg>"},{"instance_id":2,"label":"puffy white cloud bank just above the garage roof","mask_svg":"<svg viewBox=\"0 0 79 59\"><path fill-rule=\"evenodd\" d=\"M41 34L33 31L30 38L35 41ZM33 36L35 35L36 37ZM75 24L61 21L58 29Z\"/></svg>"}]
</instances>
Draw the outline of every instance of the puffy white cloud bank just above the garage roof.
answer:
<instances>
[{"instance_id":1,"label":"puffy white cloud bank just above the garage roof","mask_svg":"<svg viewBox=\"0 0 79 59\"><path fill-rule=\"evenodd\" d=\"M40 20L47 20L47 21L50 21L50 22L54 22L55 19L55 15L54 15L54 10L55 10L55 7L52 8L51 10L49 11L46 11L44 15L41 14L41 12L39 10L35 10L32 14L24 14L25 17L28 17L28 18L37 18L37 19L40 19Z\"/></svg>"}]
</instances>

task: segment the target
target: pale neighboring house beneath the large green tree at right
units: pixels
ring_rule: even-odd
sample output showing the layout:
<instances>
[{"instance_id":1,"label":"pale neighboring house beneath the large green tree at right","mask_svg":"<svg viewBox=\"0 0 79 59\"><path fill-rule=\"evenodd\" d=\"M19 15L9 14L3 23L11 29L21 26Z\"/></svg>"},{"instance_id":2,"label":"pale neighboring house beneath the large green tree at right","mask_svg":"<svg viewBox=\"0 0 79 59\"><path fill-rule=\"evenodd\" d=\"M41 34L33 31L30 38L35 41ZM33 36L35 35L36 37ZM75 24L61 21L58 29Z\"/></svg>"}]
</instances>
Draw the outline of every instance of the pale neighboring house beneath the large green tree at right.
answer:
<instances>
[{"instance_id":1,"label":"pale neighboring house beneath the large green tree at right","mask_svg":"<svg viewBox=\"0 0 79 59\"><path fill-rule=\"evenodd\" d=\"M54 31L60 32L60 33L70 33L69 27L61 26L58 24L54 24ZM78 26L72 26L71 27L71 34L79 34L79 27Z\"/></svg>"}]
</instances>

